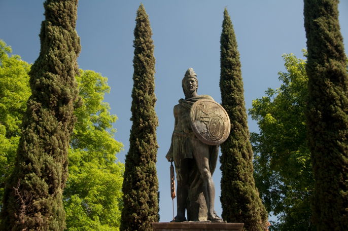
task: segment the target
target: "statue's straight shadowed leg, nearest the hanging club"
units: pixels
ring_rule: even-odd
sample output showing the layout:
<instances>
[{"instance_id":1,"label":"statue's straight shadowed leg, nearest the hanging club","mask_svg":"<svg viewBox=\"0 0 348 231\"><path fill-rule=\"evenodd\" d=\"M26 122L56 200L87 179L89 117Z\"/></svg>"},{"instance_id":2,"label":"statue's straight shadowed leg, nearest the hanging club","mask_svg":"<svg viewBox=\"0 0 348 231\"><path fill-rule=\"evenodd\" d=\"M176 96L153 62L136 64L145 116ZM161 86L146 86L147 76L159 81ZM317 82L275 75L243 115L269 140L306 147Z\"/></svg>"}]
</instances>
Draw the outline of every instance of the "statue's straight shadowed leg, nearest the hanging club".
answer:
<instances>
[{"instance_id":1,"label":"statue's straight shadowed leg, nearest the hanging club","mask_svg":"<svg viewBox=\"0 0 348 231\"><path fill-rule=\"evenodd\" d=\"M180 163L180 164L179 164ZM177 216L175 222L185 221L185 211L188 197L188 162L187 160L181 160L175 163L175 169L177 173Z\"/></svg>"}]
</instances>

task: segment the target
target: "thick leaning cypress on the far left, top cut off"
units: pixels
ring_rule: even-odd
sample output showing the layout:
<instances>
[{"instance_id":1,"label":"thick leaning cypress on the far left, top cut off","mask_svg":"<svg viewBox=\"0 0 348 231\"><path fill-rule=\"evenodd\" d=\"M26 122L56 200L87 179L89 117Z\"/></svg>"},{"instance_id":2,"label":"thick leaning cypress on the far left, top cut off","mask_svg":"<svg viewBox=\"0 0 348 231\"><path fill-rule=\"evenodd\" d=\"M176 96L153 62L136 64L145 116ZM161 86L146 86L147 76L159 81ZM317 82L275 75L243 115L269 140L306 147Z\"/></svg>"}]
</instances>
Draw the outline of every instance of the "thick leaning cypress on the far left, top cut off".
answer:
<instances>
[{"instance_id":1,"label":"thick leaning cypress on the far left, top cut off","mask_svg":"<svg viewBox=\"0 0 348 231\"><path fill-rule=\"evenodd\" d=\"M39 58L29 72L32 95L16 164L5 188L1 230L63 230L62 190L77 105L77 0L47 0Z\"/></svg>"}]
</instances>

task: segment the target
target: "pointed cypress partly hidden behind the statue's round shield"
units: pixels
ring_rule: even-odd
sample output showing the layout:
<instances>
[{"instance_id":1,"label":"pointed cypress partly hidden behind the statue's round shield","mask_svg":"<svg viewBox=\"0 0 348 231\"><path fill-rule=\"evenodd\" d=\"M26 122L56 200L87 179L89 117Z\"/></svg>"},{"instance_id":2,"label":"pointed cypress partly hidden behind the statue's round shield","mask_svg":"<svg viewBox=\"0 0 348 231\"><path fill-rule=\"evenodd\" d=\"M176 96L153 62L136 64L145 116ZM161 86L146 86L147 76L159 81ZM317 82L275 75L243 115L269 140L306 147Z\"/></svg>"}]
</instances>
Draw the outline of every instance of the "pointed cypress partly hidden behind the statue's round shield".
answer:
<instances>
[{"instance_id":1,"label":"pointed cypress partly hidden behind the statue's round shield","mask_svg":"<svg viewBox=\"0 0 348 231\"><path fill-rule=\"evenodd\" d=\"M231 120L231 133L221 144L222 218L228 222L244 222L245 230L265 230L267 212L253 177L253 151L249 141L239 52L227 9L224 11L220 45L221 104Z\"/></svg>"}]
</instances>

